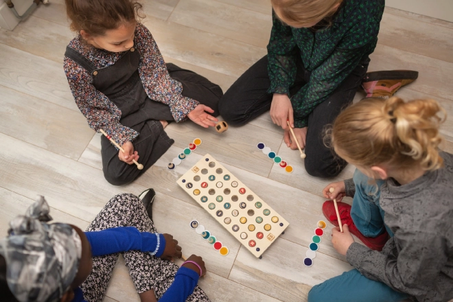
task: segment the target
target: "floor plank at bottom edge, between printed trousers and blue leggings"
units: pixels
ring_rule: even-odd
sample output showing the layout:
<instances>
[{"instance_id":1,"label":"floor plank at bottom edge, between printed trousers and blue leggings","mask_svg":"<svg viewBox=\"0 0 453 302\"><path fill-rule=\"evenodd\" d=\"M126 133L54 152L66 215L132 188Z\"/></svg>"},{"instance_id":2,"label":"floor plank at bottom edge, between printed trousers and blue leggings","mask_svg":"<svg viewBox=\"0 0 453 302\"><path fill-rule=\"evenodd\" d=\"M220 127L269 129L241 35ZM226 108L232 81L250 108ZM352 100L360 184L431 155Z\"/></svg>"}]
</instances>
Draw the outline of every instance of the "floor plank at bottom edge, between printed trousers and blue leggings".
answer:
<instances>
[{"instance_id":1,"label":"floor plank at bottom edge, between printed trousers and blue leggings","mask_svg":"<svg viewBox=\"0 0 453 302\"><path fill-rule=\"evenodd\" d=\"M281 301L307 301L312 286L352 268L320 252L316 252L313 266L306 267L306 251L306 247L281 238L270 246L263 259L241 248L229 279Z\"/></svg>"}]
</instances>

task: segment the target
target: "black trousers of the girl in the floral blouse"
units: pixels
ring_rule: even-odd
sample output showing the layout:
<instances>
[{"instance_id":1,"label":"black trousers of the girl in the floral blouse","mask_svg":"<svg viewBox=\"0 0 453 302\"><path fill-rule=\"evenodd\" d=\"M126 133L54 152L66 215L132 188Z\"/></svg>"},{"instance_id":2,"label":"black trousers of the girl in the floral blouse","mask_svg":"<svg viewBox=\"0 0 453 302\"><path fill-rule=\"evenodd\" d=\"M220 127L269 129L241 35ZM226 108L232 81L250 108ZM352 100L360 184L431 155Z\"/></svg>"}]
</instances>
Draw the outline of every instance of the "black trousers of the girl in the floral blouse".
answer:
<instances>
[{"instance_id":1,"label":"black trousers of the girl in the floral blouse","mask_svg":"<svg viewBox=\"0 0 453 302\"><path fill-rule=\"evenodd\" d=\"M182 69L172 63L167 63L167 69L174 80L183 84L183 96L209 106L214 111L212 115L217 116L219 114L218 102L223 95L220 86L213 84L194 71ZM134 89L131 88L131 93ZM143 86L137 84L137 89L143 89ZM174 140L167 136L159 121L174 121L170 107L150 98L146 102L148 104L140 110L146 111L148 120L131 127L139 132L139 136L132 141L132 145L134 150L139 153L138 162L143 165L143 170L138 170L134 164L128 165L124 161L120 161L115 146L106 137L101 137L102 170L104 177L112 185L125 185L134 181L135 178L154 165L174 143ZM132 123L132 121L128 121L128 123Z\"/></svg>"}]
</instances>

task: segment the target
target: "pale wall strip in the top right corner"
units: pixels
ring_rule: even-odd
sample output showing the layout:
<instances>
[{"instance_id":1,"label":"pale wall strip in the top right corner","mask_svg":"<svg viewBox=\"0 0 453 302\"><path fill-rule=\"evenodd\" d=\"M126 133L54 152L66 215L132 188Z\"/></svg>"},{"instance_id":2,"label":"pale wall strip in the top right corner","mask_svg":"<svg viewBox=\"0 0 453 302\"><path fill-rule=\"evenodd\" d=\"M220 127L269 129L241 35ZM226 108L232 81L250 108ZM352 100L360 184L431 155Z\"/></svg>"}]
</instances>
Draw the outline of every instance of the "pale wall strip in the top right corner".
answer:
<instances>
[{"instance_id":1,"label":"pale wall strip in the top right corner","mask_svg":"<svg viewBox=\"0 0 453 302\"><path fill-rule=\"evenodd\" d=\"M453 22L453 0L386 0L385 5Z\"/></svg>"}]
</instances>

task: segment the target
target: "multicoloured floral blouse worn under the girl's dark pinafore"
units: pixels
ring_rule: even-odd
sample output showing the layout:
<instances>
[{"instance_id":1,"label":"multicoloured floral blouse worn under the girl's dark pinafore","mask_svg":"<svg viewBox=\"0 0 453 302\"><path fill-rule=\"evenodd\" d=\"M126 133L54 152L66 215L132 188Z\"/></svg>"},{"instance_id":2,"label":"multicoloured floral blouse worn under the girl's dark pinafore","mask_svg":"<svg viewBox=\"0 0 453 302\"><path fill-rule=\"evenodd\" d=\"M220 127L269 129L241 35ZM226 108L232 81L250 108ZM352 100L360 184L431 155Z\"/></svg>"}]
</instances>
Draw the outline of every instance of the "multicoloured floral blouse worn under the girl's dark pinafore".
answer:
<instances>
[{"instance_id":1,"label":"multicoloured floral blouse worn under the girl's dark pinafore","mask_svg":"<svg viewBox=\"0 0 453 302\"><path fill-rule=\"evenodd\" d=\"M181 82L170 78L156 41L144 25L137 24L134 42L135 49L141 56L139 75L146 94L151 100L170 106L176 122L183 121L199 103L181 95L183 92ZM124 54L97 49L85 43L80 35L73 38L68 46L82 54L97 68L115 64ZM133 141L139 135L137 131L119 123L121 111L104 93L95 89L93 76L86 69L66 56L64 68L75 103L91 128L96 131L103 128L112 134L120 146L127 141Z\"/></svg>"}]
</instances>

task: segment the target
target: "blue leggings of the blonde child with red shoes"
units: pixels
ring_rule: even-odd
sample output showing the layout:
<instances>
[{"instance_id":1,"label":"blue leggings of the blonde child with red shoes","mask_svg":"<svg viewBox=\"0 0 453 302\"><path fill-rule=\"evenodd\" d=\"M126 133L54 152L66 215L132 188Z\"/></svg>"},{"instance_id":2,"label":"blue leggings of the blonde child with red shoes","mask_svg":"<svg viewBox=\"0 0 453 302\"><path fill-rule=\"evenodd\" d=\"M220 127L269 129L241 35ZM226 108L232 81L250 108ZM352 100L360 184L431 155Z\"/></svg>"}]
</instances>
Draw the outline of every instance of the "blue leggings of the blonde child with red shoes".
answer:
<instances>
[{"instance_id":1,"label":"blue leggings of the blonde child with red shoes","mask_svg":"<svg viewBox=\"0 0 453 302\"><path fill-rule=\"evenodd\" d=\"M357 229L368 237L376 237L388 231L384 224L384 211L379 205L380 186L383 181L374 181L359 170L354 172L354 195L351 218ZM407 299L408 294L397 292L382 282L364 277L356 269L343 272L342 275L313 286L308 293L309 302L398 302Z\"/></svg>"}]
</instances>

